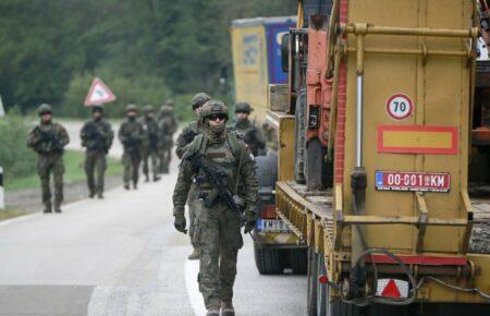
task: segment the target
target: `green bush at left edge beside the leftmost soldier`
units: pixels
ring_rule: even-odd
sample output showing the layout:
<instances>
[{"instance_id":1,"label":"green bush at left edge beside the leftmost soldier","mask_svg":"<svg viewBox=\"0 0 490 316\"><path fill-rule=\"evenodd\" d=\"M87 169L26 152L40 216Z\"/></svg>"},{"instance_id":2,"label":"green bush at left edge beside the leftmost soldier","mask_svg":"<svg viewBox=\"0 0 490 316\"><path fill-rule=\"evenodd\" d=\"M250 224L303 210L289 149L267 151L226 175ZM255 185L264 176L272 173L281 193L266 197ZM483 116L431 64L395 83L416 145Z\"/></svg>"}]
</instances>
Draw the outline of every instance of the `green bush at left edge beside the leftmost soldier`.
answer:
<instances>
[{"instance_id":1,"label":"green bush at left edge beside the leftmost soldier","mask_svg":"<svg viewBox=\"0 0 490 316\"><path fill-rule=\"evenodd\" d=\"M0 166L5 181L36 172L36 155L27 148L30 126L14 111L0 119Z\"/></svg>"}]
</instances>

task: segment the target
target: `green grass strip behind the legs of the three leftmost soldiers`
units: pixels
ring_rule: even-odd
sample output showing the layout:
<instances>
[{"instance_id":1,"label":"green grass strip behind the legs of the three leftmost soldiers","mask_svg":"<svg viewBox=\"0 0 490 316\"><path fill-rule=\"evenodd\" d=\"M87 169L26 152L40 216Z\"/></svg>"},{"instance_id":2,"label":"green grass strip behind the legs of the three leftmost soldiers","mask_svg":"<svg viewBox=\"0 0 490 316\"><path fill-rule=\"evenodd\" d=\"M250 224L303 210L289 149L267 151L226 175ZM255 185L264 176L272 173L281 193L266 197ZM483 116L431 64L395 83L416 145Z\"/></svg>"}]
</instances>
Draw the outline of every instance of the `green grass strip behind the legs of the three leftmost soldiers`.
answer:
<instances>
[{"instance_id":1,"label":"green grass strip behind the legs of the three leftmost soldiers","mask_svg":"<svg viewBox=\"0 0 490 316\"><path fill-rule=\"evenodd\" d=\"M73 183L85 180L84 171L85 153L78 150L66 150L63 156L64 160L64 183ZM120 175L123 172L122 163L112 157L107 158L106 175ZM7 192L33 189L40 185L37 173L15 179L4 179L4 189Z\"/></svg>"}]
</instances>

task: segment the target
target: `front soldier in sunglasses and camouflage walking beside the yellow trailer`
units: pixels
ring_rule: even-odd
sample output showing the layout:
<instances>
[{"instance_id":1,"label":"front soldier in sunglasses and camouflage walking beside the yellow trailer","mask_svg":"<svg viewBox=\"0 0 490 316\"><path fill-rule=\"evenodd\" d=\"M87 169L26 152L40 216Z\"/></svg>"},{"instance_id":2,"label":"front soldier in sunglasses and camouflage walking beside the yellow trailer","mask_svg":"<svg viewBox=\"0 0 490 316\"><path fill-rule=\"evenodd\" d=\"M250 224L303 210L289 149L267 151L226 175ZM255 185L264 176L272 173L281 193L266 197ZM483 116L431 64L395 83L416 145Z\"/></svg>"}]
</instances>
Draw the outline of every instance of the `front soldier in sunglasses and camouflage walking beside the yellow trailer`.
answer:
<instances>
[{"instance_id":1,"label":"front soldier in sunglasses and camouflage walking beside the yellow trailer","mask_svg":"<svg viewBox=\"0 0 490 316\"><path fill-rule=\"evenodd\" d=\"M248 147L235 132L225 130L228 108L210 100L201 109L199 134L182 159L173 193L175 229L186 232L184 206L193 182L199 196L196 204L196 231L194 239L200 247L199 291L203 293L208 316L235 315L232 299L236 275L236 258L243 246L241 227L245 233L256 221L258 182L256 163ZM196 159L199 158L199 160ZM196 163L200 161L200 163ZM206 165L206 172L203 165ZM217 174L225 184L228 194L242 200L245 222L236 210L225 203L209 174Z\"/></svg>"}]
</instances>

